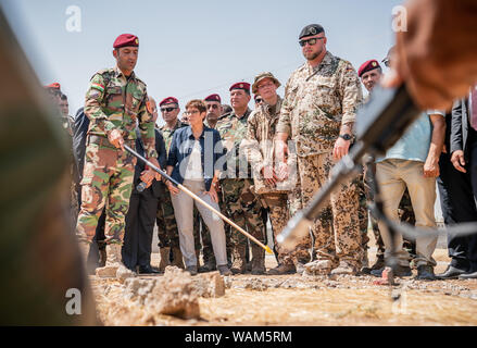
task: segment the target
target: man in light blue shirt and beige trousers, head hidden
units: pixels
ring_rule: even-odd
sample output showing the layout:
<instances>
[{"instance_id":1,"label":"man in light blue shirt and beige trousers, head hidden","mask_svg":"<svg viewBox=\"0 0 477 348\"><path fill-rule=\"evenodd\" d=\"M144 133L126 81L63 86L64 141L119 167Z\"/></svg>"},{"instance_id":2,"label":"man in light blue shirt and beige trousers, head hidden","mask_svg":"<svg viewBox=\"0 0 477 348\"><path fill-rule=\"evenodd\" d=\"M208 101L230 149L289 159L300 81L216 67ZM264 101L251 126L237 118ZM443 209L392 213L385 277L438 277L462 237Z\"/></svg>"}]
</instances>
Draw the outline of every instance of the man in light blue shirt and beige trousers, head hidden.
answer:
<instances>
[{"instance_id":1,"label":"man in light blue shirt and beige trousers, head hidden","mask_svg":"<svg viewBox=\"0 0 477 348\"><path fill-rule=\"evenodd\" d=\"M417 227L436 227L434 206L436 202L436 177L439 176L439 157L445 133L444 114L438 111L423 113L407 129L404 136L376 162L376 177L379 183L386 214L398 220L398 207L405 188L416 216ZM385 258L391 253L391 239L382 222L379 229L386 246ZM394 237L394 256L398 265L393 270L398 276L410 276L410 256L402 248L402 235ZM437 236L416 238L416 259L418 279L435 279L432 259ZM380 276L382 270L372 274Z\"/></svg>"}]
</instances>

